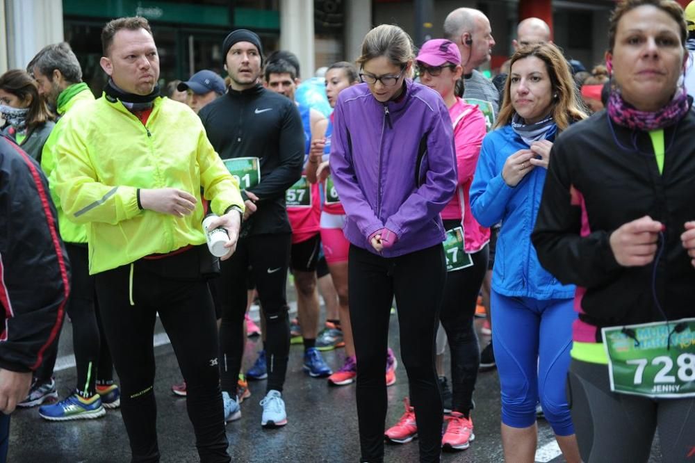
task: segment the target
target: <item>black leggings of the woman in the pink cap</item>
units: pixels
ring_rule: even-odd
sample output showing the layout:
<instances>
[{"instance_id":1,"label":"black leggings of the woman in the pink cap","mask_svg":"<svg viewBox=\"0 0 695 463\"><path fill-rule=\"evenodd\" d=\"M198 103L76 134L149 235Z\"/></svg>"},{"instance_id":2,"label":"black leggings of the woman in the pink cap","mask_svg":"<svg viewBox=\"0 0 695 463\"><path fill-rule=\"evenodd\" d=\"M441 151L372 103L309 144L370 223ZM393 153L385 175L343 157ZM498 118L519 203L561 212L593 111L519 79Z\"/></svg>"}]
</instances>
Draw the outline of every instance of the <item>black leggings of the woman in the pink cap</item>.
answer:
<instances>
[{"instance_id":1,"label":"black leggings of the woman in the pink cap","mask_svg":"<svg viewBox=\"0 0 695 463\"><path fill-rule=\"evenodd\" d=\"M446 229L452 228L448 222L444 224ZM456 227L461 225L459 220L453 222ZM473 316L487 270L488 246L471 254L471 259L473 266L446 274L444 300L439 314L451 351L452 410L466 417L473 409L473 390L480 366L480 346Z\"/></svg>"}]
</instances>

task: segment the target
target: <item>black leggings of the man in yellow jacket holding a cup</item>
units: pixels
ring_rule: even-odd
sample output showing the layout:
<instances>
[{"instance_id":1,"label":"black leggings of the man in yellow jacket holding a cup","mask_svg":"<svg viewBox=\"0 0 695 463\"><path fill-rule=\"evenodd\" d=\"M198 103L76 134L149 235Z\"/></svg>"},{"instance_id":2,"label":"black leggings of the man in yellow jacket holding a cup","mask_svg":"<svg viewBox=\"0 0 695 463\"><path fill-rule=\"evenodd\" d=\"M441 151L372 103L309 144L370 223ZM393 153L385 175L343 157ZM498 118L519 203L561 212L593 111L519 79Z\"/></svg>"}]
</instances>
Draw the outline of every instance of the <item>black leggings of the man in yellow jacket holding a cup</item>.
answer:
<instances>
[{"instance_id":1,"label":"black leggings of the man in yellow jacket holding a cup","mask_svg":"<svg viewBox=\"0 0 695 463\"><path fill-rule=\"evenodd\" d=\"M133 462L158 462L154 398L156 314L186 380L186 409L201 462L229 462L210 291L200 276L206 247L157 260L140 259L96 275L106 340L121 381L121 414Z\"/></svg>"}]
</instances>

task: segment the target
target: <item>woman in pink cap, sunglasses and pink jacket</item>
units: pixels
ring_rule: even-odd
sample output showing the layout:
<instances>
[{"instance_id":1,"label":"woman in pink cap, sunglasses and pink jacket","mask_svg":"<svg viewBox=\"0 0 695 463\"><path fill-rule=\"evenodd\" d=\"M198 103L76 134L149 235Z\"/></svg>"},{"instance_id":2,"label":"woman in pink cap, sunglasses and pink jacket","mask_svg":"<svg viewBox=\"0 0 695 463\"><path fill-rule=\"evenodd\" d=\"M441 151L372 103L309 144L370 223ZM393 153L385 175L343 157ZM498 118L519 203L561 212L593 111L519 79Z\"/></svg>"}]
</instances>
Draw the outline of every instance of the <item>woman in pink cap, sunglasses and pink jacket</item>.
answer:
<instances>
[{"instance_id":1,"label":"woman in pink cap, sunglasses and pink jacket","mask_svg":"<svg viewBox=\"0 0 695 463\"><path fill-rule=\"evenodd\" d=\"M478 224L468 204L468 189L485 136L485 117L477 106L455 95L462 70L461 55L454 42L445 39L425 42L416 63L420 83L436 90L444 99L454 131L458 184L454 197L441 212L446 229L444 245L448 271L440 320L451 350L453 392L451 403L444 402L444 409L450 415L445 417L442 446L448 450L464 450L469 441L475 439L471 409L480 350L473 315L487 269L490 238L489 229ZM443 351L444 343L441 344L442 350L438 353ZM386 437L404 443L411 441L416 433L414 409L406 402L405 414L386 431Z\"/></svg>"}]
</instances>

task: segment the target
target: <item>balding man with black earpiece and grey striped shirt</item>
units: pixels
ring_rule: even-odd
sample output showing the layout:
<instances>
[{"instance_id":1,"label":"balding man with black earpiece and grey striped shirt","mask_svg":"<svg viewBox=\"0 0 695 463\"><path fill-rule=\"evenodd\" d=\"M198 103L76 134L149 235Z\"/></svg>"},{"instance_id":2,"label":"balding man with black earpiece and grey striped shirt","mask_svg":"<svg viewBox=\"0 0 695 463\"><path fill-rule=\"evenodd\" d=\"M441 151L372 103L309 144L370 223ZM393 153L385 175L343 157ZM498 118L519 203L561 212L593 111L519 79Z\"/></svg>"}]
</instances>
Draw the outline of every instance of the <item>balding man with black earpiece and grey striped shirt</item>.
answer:
<instances>
[{"instance_id":1,"label":"balding man with black earpiece and grey striped shirt","mask_svg":"<svg viewBox=\"0 0 695 463\"><path fill-rule=\"evenodd\" d=\"M444 38L459 47L461 67L464 75L459 96L469 103L477 104L485 115L488 131L495 123L499 111L499 93L493 83L476 68L490 60L495 39L492 37L490 21L480 11L473 8L457 8L444 20Z\"/></svg>"}]
</instances>

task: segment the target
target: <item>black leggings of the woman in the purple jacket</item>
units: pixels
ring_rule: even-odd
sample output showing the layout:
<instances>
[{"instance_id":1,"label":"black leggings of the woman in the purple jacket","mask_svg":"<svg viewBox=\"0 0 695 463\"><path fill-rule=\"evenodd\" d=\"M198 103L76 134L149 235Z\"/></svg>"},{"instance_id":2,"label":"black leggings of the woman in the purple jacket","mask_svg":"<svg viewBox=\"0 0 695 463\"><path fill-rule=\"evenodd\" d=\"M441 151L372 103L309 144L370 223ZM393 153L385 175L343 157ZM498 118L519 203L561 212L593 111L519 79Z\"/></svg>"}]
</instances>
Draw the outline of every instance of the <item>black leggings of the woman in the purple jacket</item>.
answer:
<instances>
[{"instance_id":1,"label":"black leggings of the woman in the purple jacket","mask_svg":"<svg viewBox=\"0 0 695 463\"><path fill-rule=\"evenodd\" d=\"M434 369L434 338L446 279L443 247L400 257L380 257L350 245L350 321L357 352L357 418L361 458L384 460L386 352L389 313L395 295L400 351L416 410L420 461L438 462L442 405Z\"/></svg>"}]
</instances>

